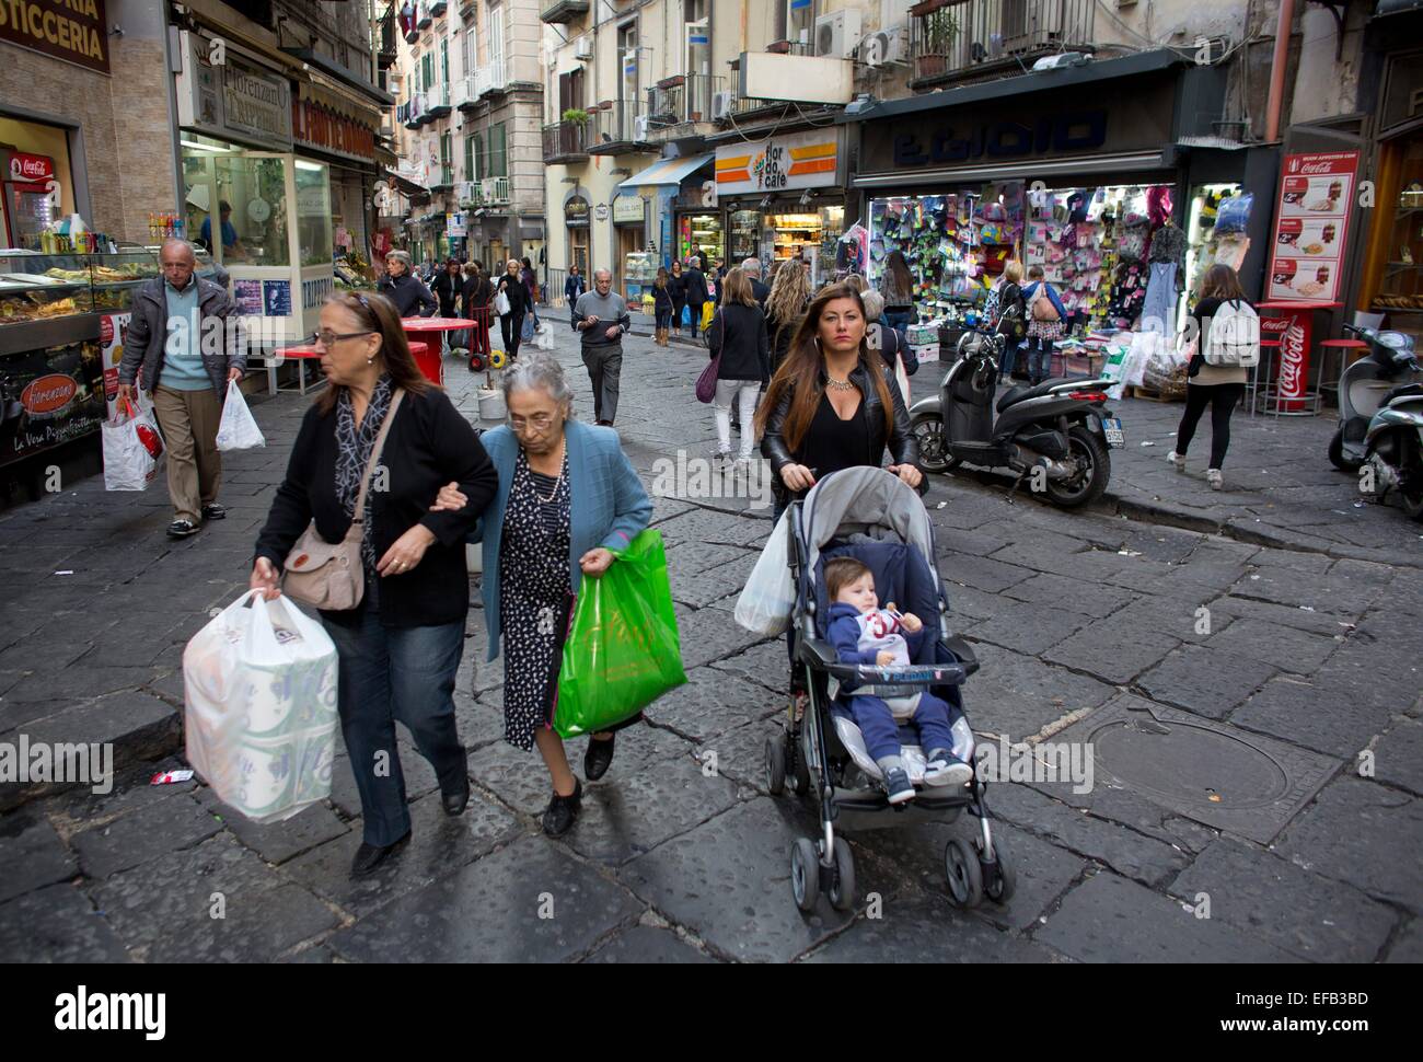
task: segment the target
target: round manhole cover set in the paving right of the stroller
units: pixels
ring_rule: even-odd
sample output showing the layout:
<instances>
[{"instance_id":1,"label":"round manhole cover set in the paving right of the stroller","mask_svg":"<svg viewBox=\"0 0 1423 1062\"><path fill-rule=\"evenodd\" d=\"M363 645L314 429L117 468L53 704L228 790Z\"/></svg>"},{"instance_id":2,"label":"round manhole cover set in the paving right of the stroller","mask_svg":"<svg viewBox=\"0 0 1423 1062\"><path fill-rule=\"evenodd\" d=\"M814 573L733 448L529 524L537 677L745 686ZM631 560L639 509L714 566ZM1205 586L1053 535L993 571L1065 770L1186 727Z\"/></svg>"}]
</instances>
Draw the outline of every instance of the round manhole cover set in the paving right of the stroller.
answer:
<instances>
[{"instance_id":1,"label":"round manhole cover set in the paving right of the stroller","mask_svg":"<svg viewBox=\"0 0 1423 1062\"><path fill-rule=\"evenodd\" d=\"M1158 800L1265 807L1289 789L1289 776L1268 753L1192 723L1126 719L1093 730L1091 743L1099 774Z\"/></svg>"}]
</instances>

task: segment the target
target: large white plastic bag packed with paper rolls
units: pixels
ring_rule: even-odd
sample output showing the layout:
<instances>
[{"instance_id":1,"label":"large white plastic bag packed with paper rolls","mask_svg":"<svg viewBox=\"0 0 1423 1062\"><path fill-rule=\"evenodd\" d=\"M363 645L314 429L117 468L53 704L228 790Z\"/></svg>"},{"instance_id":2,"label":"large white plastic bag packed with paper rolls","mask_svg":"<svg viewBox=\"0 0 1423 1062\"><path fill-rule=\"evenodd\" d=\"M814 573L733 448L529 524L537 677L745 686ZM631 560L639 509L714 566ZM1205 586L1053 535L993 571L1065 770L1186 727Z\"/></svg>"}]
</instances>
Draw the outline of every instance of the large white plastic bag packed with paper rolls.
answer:
<instances>
[{"instance_id":1,"label":"large white plastic bag packed with paper rolls","mask_svg":"<svg viewBox=\"0 0 1423 1062\"><path fill-rule=\"evenodd\" d=\"M286 598L249 591L182 655L188 763L248 819L276 823L332 794L336 645Z\"/></svg>"}]
</instances>

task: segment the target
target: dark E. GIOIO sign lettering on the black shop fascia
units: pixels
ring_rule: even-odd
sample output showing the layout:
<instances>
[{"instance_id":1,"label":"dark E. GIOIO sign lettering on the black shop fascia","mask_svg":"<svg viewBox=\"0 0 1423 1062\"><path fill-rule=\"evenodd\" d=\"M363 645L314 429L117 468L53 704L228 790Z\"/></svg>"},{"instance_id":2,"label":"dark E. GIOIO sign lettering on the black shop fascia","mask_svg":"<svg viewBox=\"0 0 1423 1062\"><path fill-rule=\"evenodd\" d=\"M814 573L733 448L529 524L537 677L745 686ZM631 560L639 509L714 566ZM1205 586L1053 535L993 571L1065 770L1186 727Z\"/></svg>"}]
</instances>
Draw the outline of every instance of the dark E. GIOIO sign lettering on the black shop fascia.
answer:
<instances>
[{"instance_id":1,"label":"dark E. GIOIO sign lettering on the black shop fascia","mask_svg":"<svg viewBox=\"0 0 1423 1062\"><path fill-rule=\"evenodd\" d=\"M1050 151L1091 151L1106 142L1106 111L1063 111L1046 114L1032 125L953 122L926 135L906 132L894 140L894 161L896 167L926 167L976 158L1025 158Z\"/></svg>"}]
</instances>

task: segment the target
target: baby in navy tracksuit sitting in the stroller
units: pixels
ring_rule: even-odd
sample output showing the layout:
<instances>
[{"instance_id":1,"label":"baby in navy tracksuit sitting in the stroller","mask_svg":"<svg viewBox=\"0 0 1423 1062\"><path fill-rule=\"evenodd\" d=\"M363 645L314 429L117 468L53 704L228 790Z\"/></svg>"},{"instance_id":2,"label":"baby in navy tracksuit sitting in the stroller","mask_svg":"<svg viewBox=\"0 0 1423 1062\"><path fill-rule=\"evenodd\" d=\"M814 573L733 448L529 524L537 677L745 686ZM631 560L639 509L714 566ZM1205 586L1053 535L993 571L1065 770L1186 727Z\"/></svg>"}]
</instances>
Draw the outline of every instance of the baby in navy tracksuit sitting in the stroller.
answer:
<instances>
[{"instance_id":1,"label":"baby in navy tracksuit sitting in the stroller","mask_svg":"<svg viewBox=\"0 0 1423 1062\"><path fill-rule=\"evenodd\" d=\"M912 612L901 614L891 602L879 608L875 577L852 557L825 564L825 591L831 599L825 635L841 663L906 668L919 652L924 622ZM884 773L891 804L914 800L914 784L899 756L899 720L912 720L919 747L926 752L926 786L962 786L973 769L953 755L949 706L928 690L892 696L891 689L859 686L847 696L850 715L865 739L865 747ZM887 696L877 696L887 693Z\"/></svg>"}]
</instances>

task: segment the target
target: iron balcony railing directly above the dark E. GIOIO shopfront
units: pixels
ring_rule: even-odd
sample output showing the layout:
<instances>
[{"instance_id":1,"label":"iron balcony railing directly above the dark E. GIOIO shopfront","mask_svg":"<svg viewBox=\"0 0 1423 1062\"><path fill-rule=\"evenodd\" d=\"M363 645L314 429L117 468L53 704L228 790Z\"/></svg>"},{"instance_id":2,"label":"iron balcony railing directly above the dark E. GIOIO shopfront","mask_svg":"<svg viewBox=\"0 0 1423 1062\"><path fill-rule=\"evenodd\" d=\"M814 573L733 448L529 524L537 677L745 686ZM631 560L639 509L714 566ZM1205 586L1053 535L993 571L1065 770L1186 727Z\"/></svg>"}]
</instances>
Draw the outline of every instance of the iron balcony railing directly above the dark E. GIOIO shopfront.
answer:
<instances>
[{"instance_id":1,"label":"iron balcony railing directly above the dark E. GIOIO shopfront","mask_svg":"<svg viewBox=\"0 0 1423 1062\"><path fill-rule=\"evenodd\" d=\"M1090 47L1093 0L925 0L909 9L914 81L989 75Z\"/></svg>"}]
</instances>

